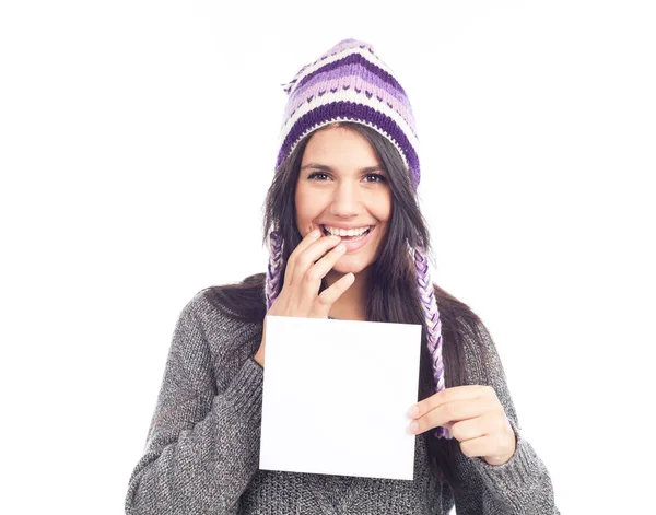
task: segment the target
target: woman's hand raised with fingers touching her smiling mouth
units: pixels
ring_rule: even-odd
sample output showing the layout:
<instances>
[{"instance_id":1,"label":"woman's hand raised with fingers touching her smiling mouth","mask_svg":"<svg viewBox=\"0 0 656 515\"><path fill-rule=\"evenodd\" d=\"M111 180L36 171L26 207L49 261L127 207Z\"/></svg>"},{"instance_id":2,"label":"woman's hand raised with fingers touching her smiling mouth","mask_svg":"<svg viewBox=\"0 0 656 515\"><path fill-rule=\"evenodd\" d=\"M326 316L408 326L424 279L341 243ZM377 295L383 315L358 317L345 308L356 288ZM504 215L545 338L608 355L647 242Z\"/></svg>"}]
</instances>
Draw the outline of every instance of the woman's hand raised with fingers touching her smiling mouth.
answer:
<instances>
[{"instance_id":1,"label":"woman's hand raised with fingers touching her smiling mouth","mask_svg":"<svg viewBox=\"0 0 656 515\"><path fill-rule=\"evenodd\" d=\"M321 237L318 229L301 241L288 259L282 290L267 315L328 318L332 304L355 281L353 273L347 273L319 294L321 279L344 254L345 247L340 241L339 236ZM267 318L265 317L262 341L254 356L261 366L265 366L266 336Z\"/></svg>"}]
</instances>

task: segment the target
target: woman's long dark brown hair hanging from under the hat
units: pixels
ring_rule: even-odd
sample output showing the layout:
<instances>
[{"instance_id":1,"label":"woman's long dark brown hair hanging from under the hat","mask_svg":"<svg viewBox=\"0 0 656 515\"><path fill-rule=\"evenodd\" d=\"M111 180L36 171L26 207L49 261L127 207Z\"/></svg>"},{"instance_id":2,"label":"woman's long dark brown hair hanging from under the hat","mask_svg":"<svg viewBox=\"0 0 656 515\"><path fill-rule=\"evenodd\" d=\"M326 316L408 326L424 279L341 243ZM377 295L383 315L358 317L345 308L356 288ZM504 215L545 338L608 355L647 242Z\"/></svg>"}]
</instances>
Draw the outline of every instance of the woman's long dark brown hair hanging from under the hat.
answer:
<instances>
[{"instance_id":1,"label":"woman's long dark brown hair hanging from under the hat","mask_svg":"<svg viewBox=\"0 0 656 515\"><path fill-rule=\"evenodd\" d=\"M384 241L380 243L378 258L372 264L371 291L366 317L370 321L421 324L422 346L420 360L419 399L434 394L433 373L426 344L424 314L417 294L415 272L408 246L414 248L421 244L431 255L430 235L425 220L412 192L410 179L403 161L385 137L374 129L353 122L336 122L327 127L344 127L363 136L375 150L386 171L391 196L393 210ZM327 128L324 127L324 128ZM320 128L318 130L323 130ZM271 231L278 231L283 242L283 265L281 278L284 278L288 259L302 237L295 223L295 189L305 147L312 133L306 136L277 171L263 206L263 238ZM212 286L208 297L224 314L244 323L262 324L266 316L265 273L256 273L241 283ZM282 281L281 281L282 282ZM468 371L464 351L462 332L476 327L479 317L462 302L436 284L435 296L442 319L443 361L446 387L466 385ZM319 292L327 288L321 281ZM480 342L480 339L476 341ZM485 347L481 353L485 353ZM421 435L425 440L431 469L441 479L441 472L452 489L462 492L462 483L455 476L452 464L458 453L457 441L438 440L434 430Z\"/></svg>"}]
</instances>

